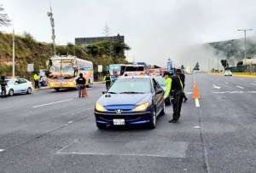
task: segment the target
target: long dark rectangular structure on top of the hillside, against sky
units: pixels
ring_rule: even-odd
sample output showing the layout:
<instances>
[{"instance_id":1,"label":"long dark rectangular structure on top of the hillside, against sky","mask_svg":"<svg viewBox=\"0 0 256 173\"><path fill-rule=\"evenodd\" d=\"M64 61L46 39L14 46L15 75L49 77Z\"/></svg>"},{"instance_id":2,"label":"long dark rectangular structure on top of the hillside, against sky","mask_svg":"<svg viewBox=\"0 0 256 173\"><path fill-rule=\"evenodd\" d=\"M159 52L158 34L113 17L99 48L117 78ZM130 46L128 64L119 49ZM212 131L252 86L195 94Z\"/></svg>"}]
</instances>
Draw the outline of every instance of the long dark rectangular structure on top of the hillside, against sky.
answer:
<instances>
[{"instance_id":1,"label":"long dark rectangular structure on top of the hillside, against sky","mask_svg":"<svg viewBox=\"0 0 256 173\"><path fill-rule=\"evenodd\" d=\"M110 37L76 37L75 44L90 44L102 41L113 41L125 43L125 36L110 36Z\"/></svg>"}]
</instances>

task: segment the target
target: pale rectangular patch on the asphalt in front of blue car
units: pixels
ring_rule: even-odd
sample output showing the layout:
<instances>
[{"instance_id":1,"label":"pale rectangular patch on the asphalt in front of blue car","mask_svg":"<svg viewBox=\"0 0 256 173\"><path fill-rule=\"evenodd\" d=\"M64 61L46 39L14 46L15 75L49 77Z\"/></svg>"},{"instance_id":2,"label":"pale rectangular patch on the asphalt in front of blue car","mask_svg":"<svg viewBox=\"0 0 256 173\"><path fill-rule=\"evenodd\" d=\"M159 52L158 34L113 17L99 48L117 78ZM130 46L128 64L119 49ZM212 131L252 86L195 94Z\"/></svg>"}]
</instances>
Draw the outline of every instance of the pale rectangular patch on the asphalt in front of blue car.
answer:
<instances>
[{"instance_id":1,"label":"pale rectangular patch on the asphalt in front of blue car","mask_svg":"<svg viewBox=\"0 0 256 173\"><path fill-rule=\"evenodd\" d=\"M124 150L125 145L125 150ZM89 140L78 141L62 147L56 154L94 156L137 156L159 158L185 158L189 144L184 141L167 140ZM148 147L151 150L148 150ZM104 148L104 150L102 150ZM162 148L165 148L163 150Z\"/></svg>"}]
</instances>

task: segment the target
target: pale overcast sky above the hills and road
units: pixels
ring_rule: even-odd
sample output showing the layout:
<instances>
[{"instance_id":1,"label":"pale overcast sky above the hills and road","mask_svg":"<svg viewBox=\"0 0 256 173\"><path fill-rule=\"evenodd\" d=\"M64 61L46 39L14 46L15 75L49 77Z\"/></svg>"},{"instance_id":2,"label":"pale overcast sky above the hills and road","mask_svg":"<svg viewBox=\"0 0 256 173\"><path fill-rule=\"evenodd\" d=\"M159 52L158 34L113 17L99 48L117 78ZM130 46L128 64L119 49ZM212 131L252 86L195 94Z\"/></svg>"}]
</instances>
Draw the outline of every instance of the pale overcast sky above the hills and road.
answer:
<instances>
[{"instance_id":1,"label":"pale overcast sky above the hills and road","mask_svg":"<svg viewBox=\"0 0 256 173\"><path fill-rule=\"evenodd\" d=\"M107 24L112 35L125 35L128 61L165 65L167 58L193 66L201 58L187 48L243 37L238 28L256 31L255 0L2 0L12 26L2 31L30 32L50 42L49 6L55 15L56 43L74 37L98 37ZM191 49L190 49L191 50ZM186 52L186 53L184 53ZM191 57L189 56L191 55ZM197 52L196 55L200 55ZM203 63L203 62L201 62Z\"/></svg>"}]
</instances>

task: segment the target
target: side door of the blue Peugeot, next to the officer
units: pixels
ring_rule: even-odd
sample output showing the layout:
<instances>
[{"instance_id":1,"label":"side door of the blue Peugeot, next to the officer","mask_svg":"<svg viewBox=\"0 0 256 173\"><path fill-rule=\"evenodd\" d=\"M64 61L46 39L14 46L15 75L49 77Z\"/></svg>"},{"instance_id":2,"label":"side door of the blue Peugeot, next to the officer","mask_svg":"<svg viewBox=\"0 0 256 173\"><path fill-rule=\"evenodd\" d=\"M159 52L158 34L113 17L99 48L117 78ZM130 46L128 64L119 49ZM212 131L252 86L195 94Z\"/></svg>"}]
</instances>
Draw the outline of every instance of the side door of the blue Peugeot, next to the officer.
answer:
<instances>
[{"instance_id":1,"label":"side door of the blue Peugeot, next to the officer","mask_svg":"<svg viewBox=\"0 0 256 173\"><path fill-rule=\"evenodd\" d=\"M160 111L163 108L163 93L164 93L164 90L161 89L160 84L158 84L154 80L154 78L153 78L153 86L154 86L154 104L156 106L156 112L157 112L157 114L159 114Z\"/></svg>"}]
</instances>

